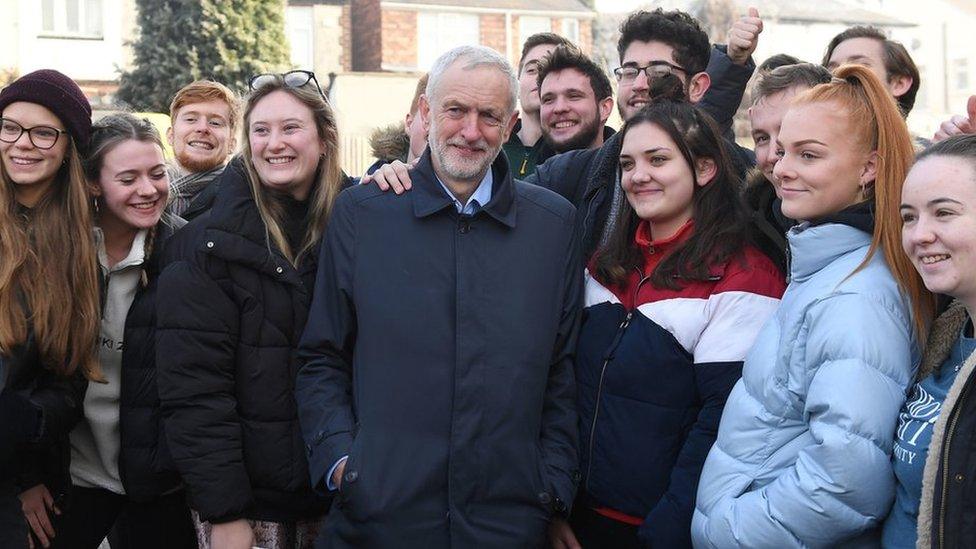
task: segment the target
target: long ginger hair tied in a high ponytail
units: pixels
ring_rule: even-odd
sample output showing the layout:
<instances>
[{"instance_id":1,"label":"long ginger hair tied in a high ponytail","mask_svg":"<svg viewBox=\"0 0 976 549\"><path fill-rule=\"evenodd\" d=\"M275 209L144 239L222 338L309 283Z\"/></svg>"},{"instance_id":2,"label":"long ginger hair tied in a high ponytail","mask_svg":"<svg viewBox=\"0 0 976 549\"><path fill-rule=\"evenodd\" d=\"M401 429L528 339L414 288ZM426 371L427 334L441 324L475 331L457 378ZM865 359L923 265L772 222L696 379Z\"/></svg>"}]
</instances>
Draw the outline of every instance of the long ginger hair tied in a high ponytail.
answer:
<instances>
[{"instance_id":1,"label":"long ginger hair tied in a high ponytail","mask_svg":"<svg viewBox=\"0 0 976 549\"><path fill-rule=\"evenodd\" d=\"M835 78L798 95L794 105L831 103L843 110L849 131L865 151L876 151L878 169L870 194L874 197L874 234L863 269L880 249L898 286L911 300L918 340L924 341L935 312L935 299L902 251L901 188L915 158L911 135L887 88L867 67L843 65Z\"/></svg>"}]
</instances>

